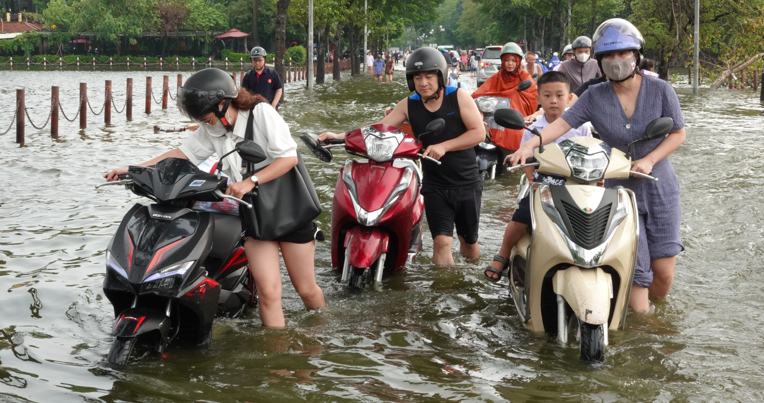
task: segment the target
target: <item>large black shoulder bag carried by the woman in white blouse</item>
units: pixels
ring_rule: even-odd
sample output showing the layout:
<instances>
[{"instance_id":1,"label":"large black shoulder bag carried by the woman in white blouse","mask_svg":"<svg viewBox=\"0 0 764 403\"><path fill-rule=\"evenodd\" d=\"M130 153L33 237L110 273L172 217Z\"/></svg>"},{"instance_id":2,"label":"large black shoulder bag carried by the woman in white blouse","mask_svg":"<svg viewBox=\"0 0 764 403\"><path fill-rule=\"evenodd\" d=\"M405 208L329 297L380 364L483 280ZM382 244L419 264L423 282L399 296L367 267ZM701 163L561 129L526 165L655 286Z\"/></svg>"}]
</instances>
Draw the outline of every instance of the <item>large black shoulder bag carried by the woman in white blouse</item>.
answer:
<instances>
[{"instance_id":1,"label":"large black shoulder bag carried by the woman in white blouse","mask_svg":"<svg viewBox=\"0 0 764 403\"><path fill-rule=\"evenodd\" d=\"M249 111L244 140L253 140L254 107L261 102L265 101L256 102ZM244 179L261 169L254 171L254 164L247 163ZM321 214L319 195L313 188L313 182L299 152L296 166L282 176L258 185L244 195L243 199L244 202L254 205L254 208L239 208L242 227L250 237L257 240L283 237L299 230Z\"/></svg>"}]
</instances>

